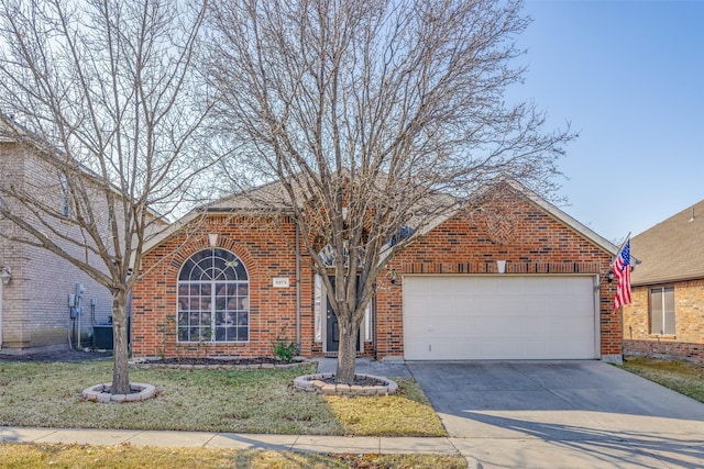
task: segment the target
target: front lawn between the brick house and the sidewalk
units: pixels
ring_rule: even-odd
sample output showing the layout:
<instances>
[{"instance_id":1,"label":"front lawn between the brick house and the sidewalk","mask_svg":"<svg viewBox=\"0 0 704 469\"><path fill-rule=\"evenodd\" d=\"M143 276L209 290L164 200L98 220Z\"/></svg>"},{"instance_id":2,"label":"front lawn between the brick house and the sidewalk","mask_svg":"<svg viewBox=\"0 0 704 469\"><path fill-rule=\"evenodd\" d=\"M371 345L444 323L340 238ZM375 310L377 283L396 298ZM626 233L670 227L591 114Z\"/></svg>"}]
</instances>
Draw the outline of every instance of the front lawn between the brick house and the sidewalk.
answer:
<instances>
[{"instance_id":1,"label":"front lawn between the brick house and the sidewalk","mask_svg":"<svg viewBox=\"0 0 704 469\"><path fill-rule=\"evenodd\" d=\"M156 399L86 402L80 392L110 382L111 361L0 361L0 425L179 429L308 435L446 436L420 388L399 394L326 398L295 391L315 364L276 369L131 369L130 380L156 386Z\"/></svg>"}]
</instances>

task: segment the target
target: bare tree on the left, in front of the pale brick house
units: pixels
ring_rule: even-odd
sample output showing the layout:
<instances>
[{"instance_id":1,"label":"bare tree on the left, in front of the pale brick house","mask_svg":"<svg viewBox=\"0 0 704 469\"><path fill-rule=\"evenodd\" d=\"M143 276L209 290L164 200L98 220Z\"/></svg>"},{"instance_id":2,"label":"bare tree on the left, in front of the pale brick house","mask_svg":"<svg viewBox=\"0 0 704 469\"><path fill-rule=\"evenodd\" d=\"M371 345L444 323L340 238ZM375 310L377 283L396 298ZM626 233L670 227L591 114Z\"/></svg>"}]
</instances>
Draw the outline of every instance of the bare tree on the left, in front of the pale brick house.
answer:
<instances>
[{"instance_id":1,"label":"bare tree on the left, in front of the pale brick house","mask_svg":"<svg viewBox=\"0 0 704 469\"><path fill-rule=\"evenodd\" d=\"M15 230L3 235L110 290L113 393L130 391L125 304L142 246L212 164L201 138L210 100L193 66L206 7L0 0L0 129L37 155L66 198L4 175L0 216Z\"/></svg>"}]
</instances>

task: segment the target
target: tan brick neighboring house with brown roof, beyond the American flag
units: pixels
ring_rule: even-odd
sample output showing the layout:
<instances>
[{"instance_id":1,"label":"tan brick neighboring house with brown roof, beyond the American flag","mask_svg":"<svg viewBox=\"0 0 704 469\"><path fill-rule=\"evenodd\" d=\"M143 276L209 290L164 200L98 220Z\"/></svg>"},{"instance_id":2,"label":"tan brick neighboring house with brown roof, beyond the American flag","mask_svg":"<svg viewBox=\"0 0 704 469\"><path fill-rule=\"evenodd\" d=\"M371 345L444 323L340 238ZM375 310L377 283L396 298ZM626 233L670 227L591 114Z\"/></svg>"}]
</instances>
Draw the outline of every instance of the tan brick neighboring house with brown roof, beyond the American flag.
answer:
<instances>
[{"instance_id":1,"label":"tan brick neighboring house with brown roof, beyond the American flag","mask_svg":"<svg viewBox=\"0 0 704 469\"><path fill-rule=\"evenodd\" d=\"M635 236L627 354L704 360L704 200Z\"/></svg>"}]
</instances>

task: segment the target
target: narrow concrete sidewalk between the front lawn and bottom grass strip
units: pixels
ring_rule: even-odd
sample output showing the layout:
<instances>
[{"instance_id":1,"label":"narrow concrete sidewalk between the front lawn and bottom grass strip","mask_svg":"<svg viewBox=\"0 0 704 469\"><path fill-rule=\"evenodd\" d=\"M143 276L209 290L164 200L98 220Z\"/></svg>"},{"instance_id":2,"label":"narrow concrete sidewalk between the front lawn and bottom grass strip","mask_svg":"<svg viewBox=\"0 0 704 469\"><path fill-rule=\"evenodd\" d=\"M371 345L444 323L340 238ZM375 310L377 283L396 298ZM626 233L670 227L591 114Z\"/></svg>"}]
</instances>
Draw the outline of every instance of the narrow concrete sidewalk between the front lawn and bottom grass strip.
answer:
<instances>
[{"instance_id":1,"label":"narrow concrete sidewalk between the front lawn and bottom grass strip","mask_svg":"<svg viewBox=\"0 0 704 469\"><path fill-rule=\"evenodd\" d=\"M75 443L87 445L130 443L141 446L273 449L333 454L459 454L450 438L250 435L139 429L0 427L0 443Z\"/></svg>"}]
</instances>

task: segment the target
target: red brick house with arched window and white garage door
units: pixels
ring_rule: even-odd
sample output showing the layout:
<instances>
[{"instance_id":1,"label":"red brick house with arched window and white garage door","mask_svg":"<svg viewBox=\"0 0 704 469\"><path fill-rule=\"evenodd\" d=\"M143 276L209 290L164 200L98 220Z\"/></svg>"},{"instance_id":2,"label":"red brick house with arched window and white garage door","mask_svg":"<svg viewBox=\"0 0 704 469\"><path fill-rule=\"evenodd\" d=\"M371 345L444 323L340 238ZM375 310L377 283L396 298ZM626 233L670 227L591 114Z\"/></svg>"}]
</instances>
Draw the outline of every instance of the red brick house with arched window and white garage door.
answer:
<instances>
[{"instance_id":1,"label":"red brick house with arched window and white garage door","mask_svg":"<svg viewBox=\"0 0 704 469\"><path fill-rule=\"evenodd\" d=\"M617 247L532 192L468 206L391 259L360 333L377 359L622 359ZM294 220L238 197L187 215L144 252L133 290L134 357L338 350L320 279L292 249Z\"/></svg>"}]
</instances>

